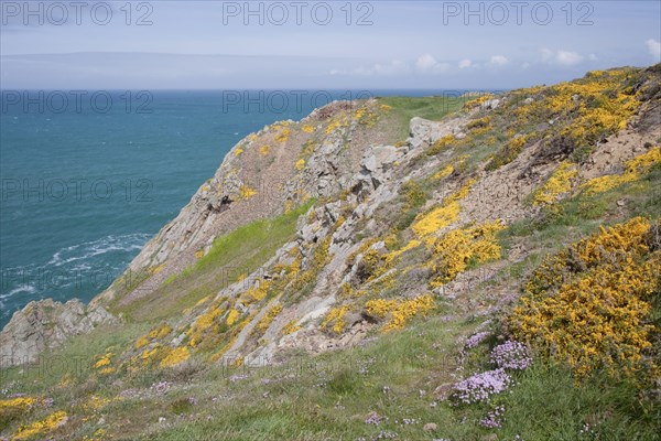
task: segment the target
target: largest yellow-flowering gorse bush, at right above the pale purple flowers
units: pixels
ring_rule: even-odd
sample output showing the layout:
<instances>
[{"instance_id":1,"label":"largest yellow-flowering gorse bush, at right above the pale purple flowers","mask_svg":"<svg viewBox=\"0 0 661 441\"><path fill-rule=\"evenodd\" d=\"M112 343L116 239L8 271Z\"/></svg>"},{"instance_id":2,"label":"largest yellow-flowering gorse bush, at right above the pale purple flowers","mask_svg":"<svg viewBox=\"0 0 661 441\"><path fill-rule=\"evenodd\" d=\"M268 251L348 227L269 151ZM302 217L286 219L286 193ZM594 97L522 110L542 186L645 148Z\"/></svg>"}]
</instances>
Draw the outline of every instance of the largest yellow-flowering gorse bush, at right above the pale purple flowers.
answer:
<instances>
[{"instance_id":1,"label":"largest yellow-flowering gorse bush, at right above the pale purple flowers","mask_svg":"<svg viewBox=\"0 0 661 441\"><path fill-rule=\"evenodd\" d=\"M647 359L651 295L659 292L659 224L637 217L546 258L509 319L514 336L566 361L581 378L595 368L629 376Z\"/></svg>"}]
</instances>

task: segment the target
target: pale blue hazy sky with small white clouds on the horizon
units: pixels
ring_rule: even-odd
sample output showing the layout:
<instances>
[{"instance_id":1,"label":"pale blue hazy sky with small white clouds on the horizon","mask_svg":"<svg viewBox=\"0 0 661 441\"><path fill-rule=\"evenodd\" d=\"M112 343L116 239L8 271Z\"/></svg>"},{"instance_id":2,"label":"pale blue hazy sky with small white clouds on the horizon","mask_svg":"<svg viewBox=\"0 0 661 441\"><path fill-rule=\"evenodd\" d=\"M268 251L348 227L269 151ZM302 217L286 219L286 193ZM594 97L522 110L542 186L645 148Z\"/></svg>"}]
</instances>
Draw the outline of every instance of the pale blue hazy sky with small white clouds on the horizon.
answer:
<instances>
[{"instance_id":1,"label":"pale blue hazy sky with small white clouds on the horizon","mask_svg":"<svg viewBox=\"0 0 661 441\"><path fill-rule=\"evenodd\" d=\"M8 1L2 89L510 89L661 62L661 1Z\"/></svg>"}]
</instances>

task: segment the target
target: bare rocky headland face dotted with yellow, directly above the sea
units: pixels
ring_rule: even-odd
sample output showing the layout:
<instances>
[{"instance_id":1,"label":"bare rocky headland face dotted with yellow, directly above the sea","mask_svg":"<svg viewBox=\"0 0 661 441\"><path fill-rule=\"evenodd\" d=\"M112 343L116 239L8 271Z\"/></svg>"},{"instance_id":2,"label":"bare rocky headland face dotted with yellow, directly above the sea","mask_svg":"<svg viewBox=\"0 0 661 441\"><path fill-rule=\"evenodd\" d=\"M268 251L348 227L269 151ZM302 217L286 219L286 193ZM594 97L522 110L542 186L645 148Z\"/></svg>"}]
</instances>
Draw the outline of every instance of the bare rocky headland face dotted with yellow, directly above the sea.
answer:
<instances>
[{"instance_id":1,"label":"bare rocky headland face dotted with yellow, directly above the sea","mask_svg":"<svg viewBox=\"0 0 661 441\"><path fill-rule=\"evenodd\" d=\"M192 266L216 237L303 201L337 194L357 171L356 159L391 136L388 119L376 100L337 101L301 121L279 121L248 136L94 302L130 304ZM365 137L365 128L379 122L386 129Z\"/></svg>"}]
</instances>

